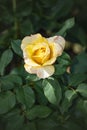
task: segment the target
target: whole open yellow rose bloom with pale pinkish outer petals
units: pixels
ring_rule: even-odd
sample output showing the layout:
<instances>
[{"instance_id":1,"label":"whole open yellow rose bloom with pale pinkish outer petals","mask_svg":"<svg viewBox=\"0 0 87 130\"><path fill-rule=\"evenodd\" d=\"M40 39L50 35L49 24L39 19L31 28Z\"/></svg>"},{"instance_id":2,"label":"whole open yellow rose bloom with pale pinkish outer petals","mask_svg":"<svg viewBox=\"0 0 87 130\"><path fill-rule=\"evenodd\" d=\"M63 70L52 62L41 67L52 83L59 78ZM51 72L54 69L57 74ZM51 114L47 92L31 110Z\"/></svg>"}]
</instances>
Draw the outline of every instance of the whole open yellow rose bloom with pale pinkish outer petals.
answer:
<instances>
[{"instance_id":1,"label":"whole open yellow rose bloom with pale pinkish outer petals","mask_svg":"<svg viewBox=\"0 0 87 130\"><path fill-rule=\"evenodd\" d=\"M53 64L62 55L64 47L65 40L61 36L45 38L41 34L35 34L24 37L21 48L26 71L43 79L53 75Z\"/></svg>"}]
</instances>

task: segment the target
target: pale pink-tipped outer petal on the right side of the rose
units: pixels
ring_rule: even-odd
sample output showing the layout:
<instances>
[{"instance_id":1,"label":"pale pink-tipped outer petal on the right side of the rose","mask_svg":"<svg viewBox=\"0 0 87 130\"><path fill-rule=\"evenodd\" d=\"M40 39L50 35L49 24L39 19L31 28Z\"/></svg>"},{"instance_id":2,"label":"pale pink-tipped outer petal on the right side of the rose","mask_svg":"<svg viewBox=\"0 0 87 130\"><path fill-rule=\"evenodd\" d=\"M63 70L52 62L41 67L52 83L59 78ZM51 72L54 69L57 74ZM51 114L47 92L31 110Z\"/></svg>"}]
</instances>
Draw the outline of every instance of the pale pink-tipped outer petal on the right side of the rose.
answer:
<instances>
[{"instance_id":1,"label":"pale pink-tipped outer petal on the right side of the rose","mask_svg":"<svg viewBox=\"0 0 87 130\"><path fill-rule=\"evenodd\" d=\"M62 55L63 49L65 47L65 40L61 36L54 36L47 38L51 50L51 57L50 59L45 62L43 65L52 65L56 58L60 55Z\"/></svg>"}]
</instances>

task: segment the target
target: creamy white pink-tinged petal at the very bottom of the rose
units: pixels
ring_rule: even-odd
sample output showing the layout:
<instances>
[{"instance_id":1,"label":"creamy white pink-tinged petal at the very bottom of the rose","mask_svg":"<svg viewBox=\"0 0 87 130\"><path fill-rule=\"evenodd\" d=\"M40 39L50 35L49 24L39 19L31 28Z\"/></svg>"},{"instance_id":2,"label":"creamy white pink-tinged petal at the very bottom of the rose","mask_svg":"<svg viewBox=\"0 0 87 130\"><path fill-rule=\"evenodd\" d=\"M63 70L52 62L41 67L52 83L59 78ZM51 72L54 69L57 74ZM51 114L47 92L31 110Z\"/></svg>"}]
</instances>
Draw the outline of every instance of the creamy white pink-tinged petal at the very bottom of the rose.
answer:
<instances>
[{"instance_id":1,"label":"creamy white pink-tinged petal at the very bottom of the rose","mask_svg":"<svg viewBox=\"0 0 87 130\"><path fill-rule=\"evenodd\" d=\"M37 69L37 76L39 78L48 78L50 77L51 75L53 75L55 72L55 68L54 66L44 66L44 67L41 67L41 68L38 68Z\"/></svg>"}]
</instances>

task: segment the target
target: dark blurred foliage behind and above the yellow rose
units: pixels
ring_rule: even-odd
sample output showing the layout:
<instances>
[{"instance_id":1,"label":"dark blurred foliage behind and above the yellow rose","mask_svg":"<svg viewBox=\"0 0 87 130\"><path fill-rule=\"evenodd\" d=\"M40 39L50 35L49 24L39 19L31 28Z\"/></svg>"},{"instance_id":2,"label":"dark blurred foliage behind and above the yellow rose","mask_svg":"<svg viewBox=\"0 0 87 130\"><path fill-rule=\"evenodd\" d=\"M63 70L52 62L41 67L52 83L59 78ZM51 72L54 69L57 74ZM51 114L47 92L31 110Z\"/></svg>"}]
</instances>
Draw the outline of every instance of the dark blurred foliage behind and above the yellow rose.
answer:
<instances>
[{"instance_id":1,"label":"dark blurred foliage behind and above the yellow rose","mask_svg":"<svg viewBox=\"0 0 87 130\"><path fill-rule=\"evenodd\" d=\"M41 33L55 35L64 22L75 17L75 25L65 36L66 50L75 54L87 46L87 0L2 0L0 1L0 51L12 39Z\"/></svg>"}]
</instances>

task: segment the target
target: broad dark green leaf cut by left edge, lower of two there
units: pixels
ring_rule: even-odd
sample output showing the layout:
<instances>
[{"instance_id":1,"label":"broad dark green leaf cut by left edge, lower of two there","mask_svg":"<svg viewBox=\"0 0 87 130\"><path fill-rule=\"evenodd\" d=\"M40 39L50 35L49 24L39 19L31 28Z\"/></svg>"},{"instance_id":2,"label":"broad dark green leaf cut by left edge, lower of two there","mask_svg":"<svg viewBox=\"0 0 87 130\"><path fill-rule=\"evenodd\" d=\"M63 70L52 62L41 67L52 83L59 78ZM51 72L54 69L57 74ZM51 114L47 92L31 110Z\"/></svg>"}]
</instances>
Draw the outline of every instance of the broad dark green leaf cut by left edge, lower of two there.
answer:
<instances>
[{"instance_id":1,"label":"broad dark green leaf cut by left edge, lower of two there","mask_svg":"<svg viewBox=\"0 0 87 130\"><path fill-rule=\"evenodd\" d=\"M0 94L0 114L4 114L11 110L16 104L15 95L10 92Z\"/></svg>"}]
</instances>

